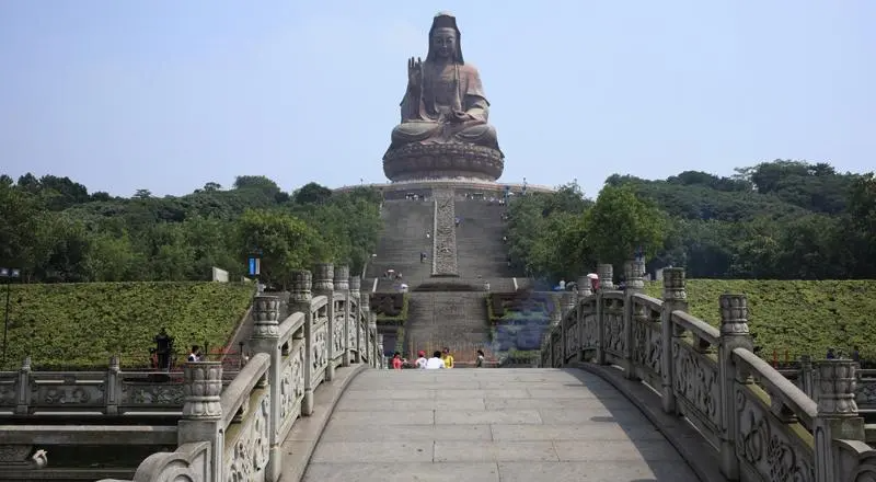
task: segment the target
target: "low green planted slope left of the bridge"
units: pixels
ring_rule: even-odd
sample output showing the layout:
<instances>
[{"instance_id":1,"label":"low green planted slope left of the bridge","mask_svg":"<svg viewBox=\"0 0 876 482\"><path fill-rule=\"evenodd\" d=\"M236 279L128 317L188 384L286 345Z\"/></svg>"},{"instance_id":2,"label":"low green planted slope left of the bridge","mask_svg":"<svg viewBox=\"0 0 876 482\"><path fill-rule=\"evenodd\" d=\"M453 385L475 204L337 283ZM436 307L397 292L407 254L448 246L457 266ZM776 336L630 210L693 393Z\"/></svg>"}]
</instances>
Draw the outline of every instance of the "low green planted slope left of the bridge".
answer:
<instances>
[{"instance_id":1,"label":"low green planted slope left of the bridge","mask_svg":"<svg viewBox=\"0 0 876 482\"><path fill-rule=\"evenodd\" d=\"M145 368L161 328L175 337L181 356L205 341L220 347L254 289L228 283L13 285L2 368L18 369L30 355L35 369L105 369L114 354L123 368Z\"/></svg>"}]
</instances>

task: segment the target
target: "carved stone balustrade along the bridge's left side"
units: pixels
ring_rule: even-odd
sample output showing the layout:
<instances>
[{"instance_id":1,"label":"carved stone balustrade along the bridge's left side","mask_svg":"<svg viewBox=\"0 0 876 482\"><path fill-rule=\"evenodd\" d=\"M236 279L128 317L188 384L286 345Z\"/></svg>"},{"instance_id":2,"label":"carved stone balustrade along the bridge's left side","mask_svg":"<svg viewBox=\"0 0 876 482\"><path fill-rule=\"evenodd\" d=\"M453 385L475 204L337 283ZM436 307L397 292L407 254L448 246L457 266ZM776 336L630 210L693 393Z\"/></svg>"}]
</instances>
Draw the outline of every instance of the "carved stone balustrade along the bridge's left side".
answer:
<instances>
[{"instance_id":1,"label":"carved stone balustrade along the bridge's left side","mask_svg":"<svg viewBox=\"0 0 876 482\"><path fill-rule=\"evenodd\" d=\"M279 300L253 302L254 355L222 389L219 362L188 363L178 447L149 456L131 481L265 480L280 477L280 445L297 421L313 414L314 391L337 367L381 367L376 317L359 279L346 266L315 265L292 273L291 314L279 321Z\"/></svg>"}]
</instances>

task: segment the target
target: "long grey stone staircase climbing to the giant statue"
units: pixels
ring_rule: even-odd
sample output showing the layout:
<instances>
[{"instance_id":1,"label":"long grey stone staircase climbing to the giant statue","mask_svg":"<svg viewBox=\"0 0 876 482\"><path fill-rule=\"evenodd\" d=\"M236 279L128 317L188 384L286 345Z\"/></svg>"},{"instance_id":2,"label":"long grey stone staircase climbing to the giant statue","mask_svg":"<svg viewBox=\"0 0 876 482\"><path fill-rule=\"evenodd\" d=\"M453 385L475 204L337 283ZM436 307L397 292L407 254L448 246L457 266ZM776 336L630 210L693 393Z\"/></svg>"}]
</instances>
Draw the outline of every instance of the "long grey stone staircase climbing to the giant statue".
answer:
<instances>
[{"instance_id":1,"label":"long grey stone staircase climbing to the giant statue","mask_svg":"<svg viewBox=\"0 0 876 482\"><path fill-rule=\"evenodd\" d=\"M479 348L493 358L485 297L527 286L508 266L502 219L506 206L461 199L452 190L436 191L431 197L429 202L384 202L383 234L362 289L376 286L377 292L393 292L407 284L405 355L448 346L463 364L473 360ZM461 219L459 226L453 225L454 217ZM422 252L429 256L424 263ZM387 269L401 272L402 279L387 279ZM388 342L394 334L384 331ZM395 346L384 345L388 351Z\"/></svg>"}]
</instances>

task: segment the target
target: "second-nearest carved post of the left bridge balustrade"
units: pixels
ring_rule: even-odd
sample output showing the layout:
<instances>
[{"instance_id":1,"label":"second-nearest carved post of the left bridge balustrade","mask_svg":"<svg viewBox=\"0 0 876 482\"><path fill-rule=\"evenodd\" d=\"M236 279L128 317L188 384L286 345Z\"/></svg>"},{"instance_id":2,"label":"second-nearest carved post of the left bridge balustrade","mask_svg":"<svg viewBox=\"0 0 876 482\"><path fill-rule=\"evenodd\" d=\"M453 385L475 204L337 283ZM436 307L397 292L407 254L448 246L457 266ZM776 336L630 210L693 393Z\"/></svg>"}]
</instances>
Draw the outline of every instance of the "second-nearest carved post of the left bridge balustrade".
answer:
<instances>
[{"instance_id":1,"label":"second-nearest carved post of the left bridge balustrade","mask_svg":"<svg viewBox=\"0 0 876 482\"><path fill-rule=\"evenodd\" d=\"M253 353L266 353L270 356L267 371L268 390L270 390L270 414L268 416L269 455L265 470L265 481L276 482L280 478L283 467L283 440L278 439L283 422L280 420L280 377L283 376L283 354L280 353L280 300L276 296L260 295L253 299L253 333L250 336L250 349Z\"/></svg>"}]
</instances>

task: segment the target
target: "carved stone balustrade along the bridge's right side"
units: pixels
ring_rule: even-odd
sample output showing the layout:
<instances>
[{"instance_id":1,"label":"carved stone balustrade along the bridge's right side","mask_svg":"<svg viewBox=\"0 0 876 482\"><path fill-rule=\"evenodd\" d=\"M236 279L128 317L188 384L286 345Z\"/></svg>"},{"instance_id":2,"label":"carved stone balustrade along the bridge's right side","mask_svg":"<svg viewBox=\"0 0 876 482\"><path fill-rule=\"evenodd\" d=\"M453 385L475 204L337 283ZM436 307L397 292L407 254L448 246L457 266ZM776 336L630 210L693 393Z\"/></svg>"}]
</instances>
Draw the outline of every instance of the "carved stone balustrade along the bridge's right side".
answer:
<instances>
[{"instance_id":1,"label":"carved stone balustrade along the bridge's right side","mask_svg":"<svg viewBox=\"0 0 876 482\"><path fill-rule=\"evenodd\" d=\"M624 268L624 290L613 289L610 265L599 266L597 292L578 283L544 338L543 367L610 366L647 385L664 412L696 428L728 480L876 480L866 444L876 427L862 417L876 408L876 379L857 363L804 359L786 377L754 354L745 295L719 297L715 328L688 313L683 268L664 269L662 299L644 295L643 262Z\"/></svg>"}]
</instances>

